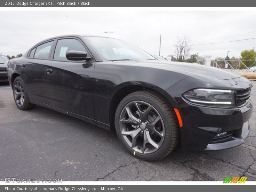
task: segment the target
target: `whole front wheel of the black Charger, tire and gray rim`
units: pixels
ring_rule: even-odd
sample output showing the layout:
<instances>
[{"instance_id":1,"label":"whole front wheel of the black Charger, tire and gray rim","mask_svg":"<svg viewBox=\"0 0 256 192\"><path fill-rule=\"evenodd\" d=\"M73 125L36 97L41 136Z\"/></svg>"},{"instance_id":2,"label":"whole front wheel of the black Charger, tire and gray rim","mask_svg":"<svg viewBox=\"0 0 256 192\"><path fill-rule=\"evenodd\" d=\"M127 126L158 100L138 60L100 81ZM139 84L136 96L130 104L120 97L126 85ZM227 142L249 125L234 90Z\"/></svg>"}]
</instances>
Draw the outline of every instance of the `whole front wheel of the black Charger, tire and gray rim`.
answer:
<instances>
[{"instance_id":1,"label":"whole front wheel of the black Charger, tire and gray rim","mask_svg":"<svg viewBox=\"0 0 256 192\"><path fill-rule=\"evenodd\" d=\"M173 108L154 91L127 95L116 109L115 129L124 147L147 161L166 157L179 141Z\"/></svg>"}]
</instances>

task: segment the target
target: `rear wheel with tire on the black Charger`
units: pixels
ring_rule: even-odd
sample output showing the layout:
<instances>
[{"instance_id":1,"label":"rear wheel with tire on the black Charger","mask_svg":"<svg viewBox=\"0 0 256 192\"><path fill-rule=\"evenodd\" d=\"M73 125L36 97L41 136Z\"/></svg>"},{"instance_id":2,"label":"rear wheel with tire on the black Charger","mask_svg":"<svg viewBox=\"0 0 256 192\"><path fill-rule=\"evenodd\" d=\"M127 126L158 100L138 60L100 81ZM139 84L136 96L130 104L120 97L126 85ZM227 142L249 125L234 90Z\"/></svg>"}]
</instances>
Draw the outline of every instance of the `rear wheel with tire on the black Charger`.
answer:
<instances>
[{"instance_id":1,"label":"rear wheel with tire on the black Charger","mask_svg":"<svg viewBox=\"0 0 256 192\"><path fill-rule=\"evenodd\" d=\"M24 82L20 77L16 77L12 86L13 98L16 106L20 110L28 110L35 107L35 104L29 102L28 92L24 86Z\"/></svg>"}]
</instances>

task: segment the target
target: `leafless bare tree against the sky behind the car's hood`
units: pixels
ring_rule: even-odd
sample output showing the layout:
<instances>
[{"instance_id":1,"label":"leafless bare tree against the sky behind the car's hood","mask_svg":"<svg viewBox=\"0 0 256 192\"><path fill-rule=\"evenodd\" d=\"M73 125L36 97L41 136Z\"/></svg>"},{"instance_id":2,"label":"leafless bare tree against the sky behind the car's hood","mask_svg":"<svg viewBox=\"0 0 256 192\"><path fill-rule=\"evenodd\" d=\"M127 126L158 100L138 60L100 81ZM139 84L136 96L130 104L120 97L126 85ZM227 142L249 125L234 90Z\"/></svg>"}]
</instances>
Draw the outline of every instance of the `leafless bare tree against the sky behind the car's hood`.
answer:
<instances>
[{"instance_id":1,"label":"leafless bare tree against the sky behind the car's hood","mask_svg":"<svg viewBox=\"0 0 256 192\"><path fill-rule=\"evenodd\" d=\"M177 60L184 62L188 58L191 50L191 40L188 36L177 37L177 41L174 44L175 53L177 54Z\"/></svg>"}]
</instances>

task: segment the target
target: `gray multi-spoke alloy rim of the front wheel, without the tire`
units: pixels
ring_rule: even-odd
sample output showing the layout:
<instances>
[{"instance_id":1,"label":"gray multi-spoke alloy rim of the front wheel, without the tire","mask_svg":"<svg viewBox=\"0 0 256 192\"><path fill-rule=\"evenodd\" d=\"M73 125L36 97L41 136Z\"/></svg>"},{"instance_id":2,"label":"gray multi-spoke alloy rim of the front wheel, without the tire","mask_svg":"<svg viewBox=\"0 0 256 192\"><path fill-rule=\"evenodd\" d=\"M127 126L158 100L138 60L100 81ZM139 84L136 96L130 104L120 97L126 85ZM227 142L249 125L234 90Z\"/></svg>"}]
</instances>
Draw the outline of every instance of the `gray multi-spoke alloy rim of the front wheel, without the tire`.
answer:
<instances>
[{"instance_id":1,"label":"gray multi-spoke alloy rim of the front wheel, without the tire","mask_svg":"<svg viewBox=\"0 0 256 192\"><path fill-rule=\"evenodd\" d=\"M149 103L132 101L122 110L120 129L126 143L137 153L156 152L164 141L164 122Z\"/></svg>"}]
</instances>

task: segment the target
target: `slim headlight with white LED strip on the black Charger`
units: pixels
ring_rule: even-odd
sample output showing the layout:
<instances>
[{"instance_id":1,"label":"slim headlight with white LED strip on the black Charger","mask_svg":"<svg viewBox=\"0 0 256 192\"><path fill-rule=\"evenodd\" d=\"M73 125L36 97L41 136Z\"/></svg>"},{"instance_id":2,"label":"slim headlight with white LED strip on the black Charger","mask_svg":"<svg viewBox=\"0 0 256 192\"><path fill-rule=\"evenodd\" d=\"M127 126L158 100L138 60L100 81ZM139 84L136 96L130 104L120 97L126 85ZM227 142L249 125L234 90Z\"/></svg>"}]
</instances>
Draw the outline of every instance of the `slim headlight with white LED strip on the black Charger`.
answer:
<instances>
[{"instance_id":1,"label":"slim headlight with white LED strip on the black Charger","mask_svg":"<svg viewBox=\"0 0 256 192\"><path fill-rule=\"evenodd\" d=\"M235 105L235 92L221 89L193 89L183 94L183 97L197 104Z\"/></svg>"}]
</instances>

